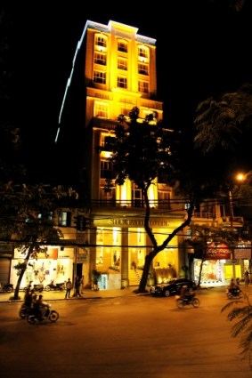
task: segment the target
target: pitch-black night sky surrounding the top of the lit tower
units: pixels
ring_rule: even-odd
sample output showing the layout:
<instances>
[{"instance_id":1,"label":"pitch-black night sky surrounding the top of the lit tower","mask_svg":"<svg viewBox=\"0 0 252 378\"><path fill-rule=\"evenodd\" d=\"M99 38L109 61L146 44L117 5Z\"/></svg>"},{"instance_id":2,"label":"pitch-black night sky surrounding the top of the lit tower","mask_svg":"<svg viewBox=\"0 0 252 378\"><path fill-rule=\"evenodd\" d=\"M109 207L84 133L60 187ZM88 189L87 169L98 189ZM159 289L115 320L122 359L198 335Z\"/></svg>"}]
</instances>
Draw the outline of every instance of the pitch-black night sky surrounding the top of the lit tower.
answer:
<instances>
[{"instance_id":1,"label":"pitch-black night sky surrounding the top of the lit tower","mask_svg":"<svg viewBox=\"0 0 252 378\"><path fill-rule=\"evenodd\" d=\"M158 1L153 7L129 1L123 3L126 12L120 2L113 6L86 3L66 0L56 6L45 1L11 10L20 98L17 111L33 155L30 160L43 159L52 146L86 20L106 25L115 20L157 39L159 101L164 102L171 127L191 127L199 101L252 83L250 0L240 12L232 12L225 0Z\"/></svg>"}]
</instances>

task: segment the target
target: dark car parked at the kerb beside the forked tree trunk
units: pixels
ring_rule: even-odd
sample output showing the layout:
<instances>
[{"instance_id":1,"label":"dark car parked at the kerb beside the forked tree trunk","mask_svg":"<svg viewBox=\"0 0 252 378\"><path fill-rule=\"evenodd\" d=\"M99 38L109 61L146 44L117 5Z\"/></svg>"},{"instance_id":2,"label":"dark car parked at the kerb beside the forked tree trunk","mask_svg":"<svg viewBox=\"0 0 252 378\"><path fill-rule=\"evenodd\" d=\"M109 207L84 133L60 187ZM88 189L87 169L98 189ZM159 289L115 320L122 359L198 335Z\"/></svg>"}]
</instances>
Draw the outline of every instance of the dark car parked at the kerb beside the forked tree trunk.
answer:
<instances>
[{"instance_id":1,"label":"dark car parked at the kerb beside the forked tree trunk","mask_svg":"<svg viewBox=\"0 0 252 378\"><path fill-rule=\"evenodd\" d=\"M196 290L195 282L187 278L175 278L169 281L167 284L159 284L150 286L150 294L155 296L179 295L183 285L187 285L190 291Z\"/></svg>"}]
</instances>

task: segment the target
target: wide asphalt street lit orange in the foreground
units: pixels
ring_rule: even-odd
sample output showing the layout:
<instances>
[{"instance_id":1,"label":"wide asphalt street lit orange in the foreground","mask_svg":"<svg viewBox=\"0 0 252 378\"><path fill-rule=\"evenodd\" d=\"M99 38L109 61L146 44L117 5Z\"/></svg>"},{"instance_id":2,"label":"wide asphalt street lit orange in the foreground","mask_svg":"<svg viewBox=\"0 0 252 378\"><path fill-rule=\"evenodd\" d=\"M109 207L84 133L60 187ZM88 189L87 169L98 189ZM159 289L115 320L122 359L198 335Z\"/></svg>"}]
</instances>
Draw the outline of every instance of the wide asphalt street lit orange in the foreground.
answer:
<instances>
[{"instance_id":1,"label":"wide asphalt street lit orange in the foreground","mask_svg":"<svg viewBox=\"0 0 252 378\"><path fill-rule=\"evenodd\" d=\"M0 302L1 375L250 378L221 313L224 288L196 293L199 309L150 295L52 301L58 322L37 326L19 318L20 302Z\"/></svg>"}]
</instances>

